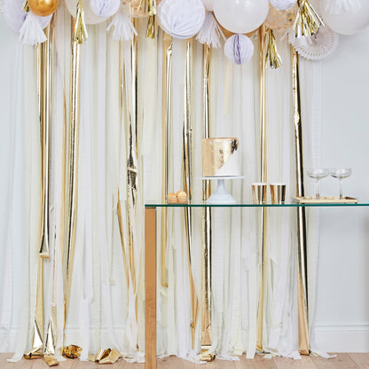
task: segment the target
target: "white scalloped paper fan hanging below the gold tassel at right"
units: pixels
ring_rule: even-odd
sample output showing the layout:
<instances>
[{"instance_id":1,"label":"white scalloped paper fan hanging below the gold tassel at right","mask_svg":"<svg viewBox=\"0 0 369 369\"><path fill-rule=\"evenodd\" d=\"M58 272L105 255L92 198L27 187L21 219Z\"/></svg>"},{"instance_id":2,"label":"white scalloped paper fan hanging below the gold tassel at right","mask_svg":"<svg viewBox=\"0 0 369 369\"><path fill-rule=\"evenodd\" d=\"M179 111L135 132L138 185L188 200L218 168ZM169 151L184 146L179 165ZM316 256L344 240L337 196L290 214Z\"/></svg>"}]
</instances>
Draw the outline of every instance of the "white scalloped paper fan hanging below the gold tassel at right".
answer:
<instances>
[{"instance_id":1,"label":"white scalloped paper fan hanging below the gold tassel at right","mask_svg":"<svg viewBox=\"0 0 369 369\"><path fill-rule=\"evenodd\" d=\"M288 35L288 41L305 59L321 60L331 55L337 48L340 35L328 27L320 27L316 35L309 37L294 37L294 32Z\"/></svg>"}]
</instances>

